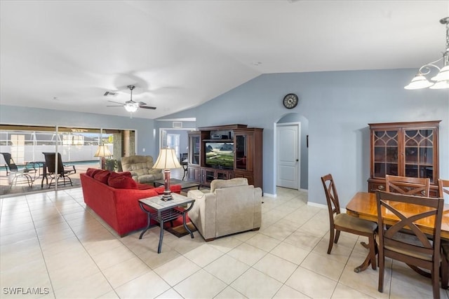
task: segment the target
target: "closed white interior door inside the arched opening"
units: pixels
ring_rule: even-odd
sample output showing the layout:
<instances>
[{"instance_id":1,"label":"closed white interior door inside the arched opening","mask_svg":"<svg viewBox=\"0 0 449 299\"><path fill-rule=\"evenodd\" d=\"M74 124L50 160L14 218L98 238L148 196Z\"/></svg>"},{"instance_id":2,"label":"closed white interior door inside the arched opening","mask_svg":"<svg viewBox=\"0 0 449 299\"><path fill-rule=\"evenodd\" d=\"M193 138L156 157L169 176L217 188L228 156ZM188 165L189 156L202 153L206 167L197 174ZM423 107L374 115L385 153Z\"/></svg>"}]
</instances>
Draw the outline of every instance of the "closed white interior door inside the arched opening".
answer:
<instances>
[{"instance_id":1,"label":"closed white interior door inside the arched opening","mask_svg":"<svg viewBox=\"0 0 449 299\"><path fill-rule=\"evenodd\" d=\"M277 179L276 185L299 188L300 182L300 123L277 125Z\"/></svg>"}]
</instances>

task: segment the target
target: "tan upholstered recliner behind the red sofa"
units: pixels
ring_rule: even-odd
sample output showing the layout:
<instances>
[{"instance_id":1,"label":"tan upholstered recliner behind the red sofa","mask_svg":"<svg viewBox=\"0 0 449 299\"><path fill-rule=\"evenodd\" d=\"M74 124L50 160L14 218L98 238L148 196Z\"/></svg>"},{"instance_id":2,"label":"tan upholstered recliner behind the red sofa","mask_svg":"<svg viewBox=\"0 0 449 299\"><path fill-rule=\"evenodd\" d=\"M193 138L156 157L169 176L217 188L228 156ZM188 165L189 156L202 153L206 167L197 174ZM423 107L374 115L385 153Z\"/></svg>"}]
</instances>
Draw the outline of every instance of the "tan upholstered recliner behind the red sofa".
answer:
<instances>
[{"instance_id":1,"label":"tan upholstered recliner behind the red sofa","mask_svg":"<svg viewBox=\"0 0 449 299\"><path fill-rule=\"evenodd\" d=\"M130 172L138 183L153 183L163 179L162 169L154 169L151 155L131 155L121 157L123 172Z\"/></svg>"}]
</instances>

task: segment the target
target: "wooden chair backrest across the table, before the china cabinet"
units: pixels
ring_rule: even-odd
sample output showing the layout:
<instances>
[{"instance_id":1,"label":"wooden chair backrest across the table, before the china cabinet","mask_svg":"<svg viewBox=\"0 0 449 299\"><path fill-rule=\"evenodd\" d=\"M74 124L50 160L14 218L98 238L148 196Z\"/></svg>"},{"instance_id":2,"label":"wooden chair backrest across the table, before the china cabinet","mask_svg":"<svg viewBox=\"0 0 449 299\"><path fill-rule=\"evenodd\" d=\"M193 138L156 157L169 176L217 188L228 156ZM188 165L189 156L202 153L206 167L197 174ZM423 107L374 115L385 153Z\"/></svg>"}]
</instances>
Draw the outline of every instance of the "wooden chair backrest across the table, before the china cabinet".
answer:
<instances>
[{"instance_id":1,"label":"wooden chair backrest across the table, before the china cabinet","mask_svg":"<svg viewBox=\"0 0 449 299\"><path fill-rule=\"evenodd\" d=\"M408 176L385 176L385 190L404 195L419 195L428 197L430 190L429 178L413 178Z\"/></svg>"}]
</instances>

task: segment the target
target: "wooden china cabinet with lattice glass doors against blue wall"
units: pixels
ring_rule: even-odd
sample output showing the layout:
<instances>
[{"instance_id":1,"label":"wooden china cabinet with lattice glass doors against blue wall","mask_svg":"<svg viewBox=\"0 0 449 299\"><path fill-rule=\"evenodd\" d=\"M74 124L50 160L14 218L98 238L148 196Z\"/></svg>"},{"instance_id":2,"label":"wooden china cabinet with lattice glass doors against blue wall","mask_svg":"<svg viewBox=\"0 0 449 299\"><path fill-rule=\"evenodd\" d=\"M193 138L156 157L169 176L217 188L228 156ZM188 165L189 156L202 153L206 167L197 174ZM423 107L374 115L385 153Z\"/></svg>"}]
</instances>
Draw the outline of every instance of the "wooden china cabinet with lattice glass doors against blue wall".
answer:
<instances>
[{"instance_id":1,"label":"wooden china cabinet with lattice glass doors against blue wall","mask_svg":"<svg viewBox=\"0 0 449 299\"><path fill-rule=\"evenodd\" d=\"M441 120L370 123L368 191L385 190L385 174L430 179L438 197L438 125Z\"/></svg>"}]
</instances>

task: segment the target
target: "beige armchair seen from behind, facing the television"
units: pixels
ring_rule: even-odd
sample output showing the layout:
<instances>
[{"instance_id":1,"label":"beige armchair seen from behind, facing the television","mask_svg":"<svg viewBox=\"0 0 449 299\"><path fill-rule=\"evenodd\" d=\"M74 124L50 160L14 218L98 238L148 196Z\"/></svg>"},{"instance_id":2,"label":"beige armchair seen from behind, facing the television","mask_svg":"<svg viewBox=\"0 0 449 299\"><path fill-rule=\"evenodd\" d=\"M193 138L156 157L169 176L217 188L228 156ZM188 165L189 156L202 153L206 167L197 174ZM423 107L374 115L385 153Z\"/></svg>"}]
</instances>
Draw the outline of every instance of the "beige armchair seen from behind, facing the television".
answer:
<instances>
[{"instance_id":1,"label":"beige armchair seen from behind, facing the television","mask_svg":"<svg viewBox=\"0 0 449 299\"><path fill-rule=\"evenodd\" d=\"M262 189L247 179L213 180L210 193L189 190L187 197L195 200L189 218L206 241L260 228Z\"/></svg>"}]
</instances>

